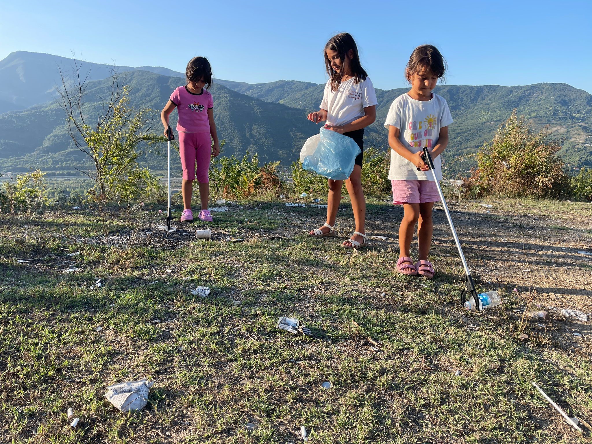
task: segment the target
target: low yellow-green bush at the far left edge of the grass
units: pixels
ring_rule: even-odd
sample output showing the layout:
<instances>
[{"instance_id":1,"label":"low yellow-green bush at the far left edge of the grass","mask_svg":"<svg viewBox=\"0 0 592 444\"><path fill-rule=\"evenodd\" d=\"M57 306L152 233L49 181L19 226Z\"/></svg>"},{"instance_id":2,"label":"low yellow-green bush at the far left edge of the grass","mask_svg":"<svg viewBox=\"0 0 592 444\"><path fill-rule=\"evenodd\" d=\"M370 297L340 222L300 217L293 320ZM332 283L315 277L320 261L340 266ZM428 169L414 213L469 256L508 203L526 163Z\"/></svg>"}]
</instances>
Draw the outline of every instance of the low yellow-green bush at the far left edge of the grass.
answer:
<instances>
[{"instance_id":1,"label":"low yellow-green bush at the far left edge of the grass","mask_svg":"<svg viewBox=\"0 0 592 444\"><path fill-rule=\"evenodd\" d=\"M18 175L15 182L4 182L4 192L0 193L2 210L43 211L49 204L45 174L37 169Z\"/></svg>"}]
</instances>

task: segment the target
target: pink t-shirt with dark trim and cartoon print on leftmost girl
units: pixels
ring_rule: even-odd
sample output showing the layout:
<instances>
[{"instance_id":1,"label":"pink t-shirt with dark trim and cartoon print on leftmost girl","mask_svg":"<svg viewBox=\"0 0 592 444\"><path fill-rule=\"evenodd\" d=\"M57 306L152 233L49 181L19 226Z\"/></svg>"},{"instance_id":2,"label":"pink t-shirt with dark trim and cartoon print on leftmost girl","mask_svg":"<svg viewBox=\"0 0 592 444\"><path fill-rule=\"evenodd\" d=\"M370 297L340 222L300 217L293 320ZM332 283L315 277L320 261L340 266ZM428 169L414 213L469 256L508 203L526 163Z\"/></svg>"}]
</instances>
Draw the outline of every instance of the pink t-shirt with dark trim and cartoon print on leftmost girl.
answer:
<instances>
[{"instance_id":1,"label":"pink t-shirt with dark trim and cartoon print on leftmost girl","mask_svg":"<svg viewBox=\"0 0 592 444\"><path fill-rule=\"evenodd\" d=\"M214 101L210 92L205 88L201 94L189 92L186 86L179 86L170 95L170 101L177 105L179 123L177 131L183 133L209 133L210 120L208 110L214 108Z\"/></svg>"}]
</instances>

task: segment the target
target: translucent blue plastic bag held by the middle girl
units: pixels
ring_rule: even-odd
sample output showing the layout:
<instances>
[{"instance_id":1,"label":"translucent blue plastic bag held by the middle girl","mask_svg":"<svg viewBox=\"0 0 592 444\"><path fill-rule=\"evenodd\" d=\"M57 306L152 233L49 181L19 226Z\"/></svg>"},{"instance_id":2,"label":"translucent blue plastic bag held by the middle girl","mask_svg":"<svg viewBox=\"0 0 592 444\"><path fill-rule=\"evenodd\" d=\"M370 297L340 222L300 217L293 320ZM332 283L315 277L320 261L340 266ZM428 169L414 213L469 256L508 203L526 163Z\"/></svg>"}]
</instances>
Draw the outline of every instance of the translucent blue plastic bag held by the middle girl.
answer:
<instances>
[{"instance_id":1,"label":"translucent blue plastic bag held by the middle girl","mask_svg":"<svg viewBox=\"0 0 592 444\"><path fill-rule=\"evenodd\" d=\"M300 152L302 168L335 181L344 181L352 174L356 156L362 150L348 136L321 128L316 136L305 141Z\"/></svg>"}]
</instances>

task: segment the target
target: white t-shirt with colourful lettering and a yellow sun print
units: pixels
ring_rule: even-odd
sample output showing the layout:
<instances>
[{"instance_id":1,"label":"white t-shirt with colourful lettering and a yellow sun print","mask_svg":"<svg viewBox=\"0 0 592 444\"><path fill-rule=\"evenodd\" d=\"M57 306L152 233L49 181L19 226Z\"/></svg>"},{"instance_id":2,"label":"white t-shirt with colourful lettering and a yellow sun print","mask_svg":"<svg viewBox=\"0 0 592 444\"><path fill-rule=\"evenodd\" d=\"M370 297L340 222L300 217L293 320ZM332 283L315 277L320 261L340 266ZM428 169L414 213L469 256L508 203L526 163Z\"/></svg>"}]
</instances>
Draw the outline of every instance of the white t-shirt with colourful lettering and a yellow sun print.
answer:
<instances>
[{"instance_id":1,"label":"white t-shirt with colourful lettering and a yellow sun print","mask_svg":"<svg viewBox=\"0 0 592 444\"><path fill-rule=\"evenodd\" d=\"M399 140L410 152L423 151L423 147L435 147L440 137L440 128L452 123L452 115L446 100L432 93L430 100L412 99L408 94L401 94L388 110L385 128L399 128ZM442 160L434 159L434 171L438 181L442 180ZM391 149L391 167L388 178L394 181L432 181L432 172L418 171L413 163Z\"/></svg>"}]
</instances>

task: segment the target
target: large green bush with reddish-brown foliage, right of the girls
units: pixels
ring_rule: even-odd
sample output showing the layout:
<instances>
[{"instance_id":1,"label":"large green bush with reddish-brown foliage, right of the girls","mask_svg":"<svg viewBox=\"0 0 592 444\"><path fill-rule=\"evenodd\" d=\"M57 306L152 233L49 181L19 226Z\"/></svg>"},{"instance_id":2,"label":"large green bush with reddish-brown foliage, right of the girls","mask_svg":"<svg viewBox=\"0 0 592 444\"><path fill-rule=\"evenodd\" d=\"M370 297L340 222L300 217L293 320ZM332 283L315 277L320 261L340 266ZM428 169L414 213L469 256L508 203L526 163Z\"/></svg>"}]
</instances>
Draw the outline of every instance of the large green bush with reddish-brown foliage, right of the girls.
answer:
<instances>
[{"instance_id":1,"label":"large green bush with reddish-brown foliage, right of the girls","mask_svg":"<svg viewBox=\"0 0 592 444\"><path fill-rule=\"evenodd\" d=\"M512 112L477 153L477 169L468 181L473 195L557 198L568 194L570 181L561 149L546 129L533 133L524 116Z\"/></svg>"}]
</instances>

